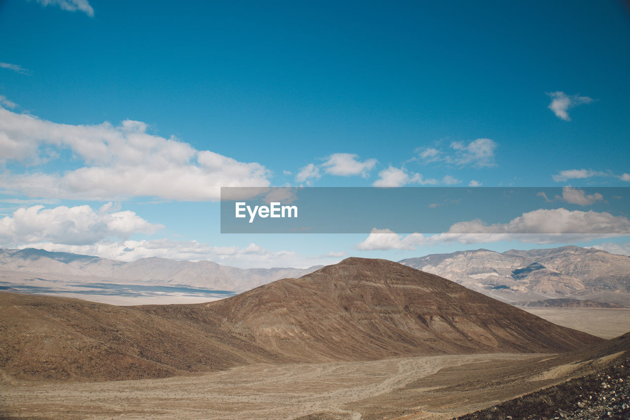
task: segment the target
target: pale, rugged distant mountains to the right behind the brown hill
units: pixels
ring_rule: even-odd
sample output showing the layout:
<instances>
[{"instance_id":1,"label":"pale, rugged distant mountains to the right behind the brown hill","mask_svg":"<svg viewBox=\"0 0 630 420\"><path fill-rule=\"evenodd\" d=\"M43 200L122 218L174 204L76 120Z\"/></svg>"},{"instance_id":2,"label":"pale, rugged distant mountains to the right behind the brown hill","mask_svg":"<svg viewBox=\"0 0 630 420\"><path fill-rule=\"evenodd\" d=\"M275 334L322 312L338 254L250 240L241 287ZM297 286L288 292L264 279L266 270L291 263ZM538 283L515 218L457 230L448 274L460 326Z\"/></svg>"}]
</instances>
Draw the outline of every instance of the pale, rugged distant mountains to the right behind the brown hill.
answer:
<instances>
[{"instance_id":1,"label":"pale, rugged distant mountains to the right behind the brown hill","mask_svg":"<svg viewBox=\"0 0 630 420\"><path fill-rule=\"evenodd\" d=\"M598 249L479 249L400 263L510 303L572 298L630 306L630 257Z\"/></svg>"}]
</instances>

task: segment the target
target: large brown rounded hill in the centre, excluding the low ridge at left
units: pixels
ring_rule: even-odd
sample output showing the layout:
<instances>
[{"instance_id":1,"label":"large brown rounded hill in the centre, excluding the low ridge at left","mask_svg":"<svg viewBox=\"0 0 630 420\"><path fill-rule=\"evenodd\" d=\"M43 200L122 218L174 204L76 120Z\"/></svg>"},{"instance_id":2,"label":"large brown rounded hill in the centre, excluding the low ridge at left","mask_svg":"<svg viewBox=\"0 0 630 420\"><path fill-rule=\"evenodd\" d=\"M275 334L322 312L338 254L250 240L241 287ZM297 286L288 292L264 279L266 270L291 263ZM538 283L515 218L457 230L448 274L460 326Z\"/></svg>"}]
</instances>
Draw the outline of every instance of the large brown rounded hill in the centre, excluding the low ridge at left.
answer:
<instances>
[{"instance_id":1,"label":"large brown rounded hill in the centre, excluding the low ridge at left","mask_svg":"<svg viewBox=\"0 0 630 420\"><path fill-rule=\"evenodd\" d=\"M297 360L555 353L601 341L380 259L348 258L203 306L256 346Z\"/></svg>"}]
</instances>

